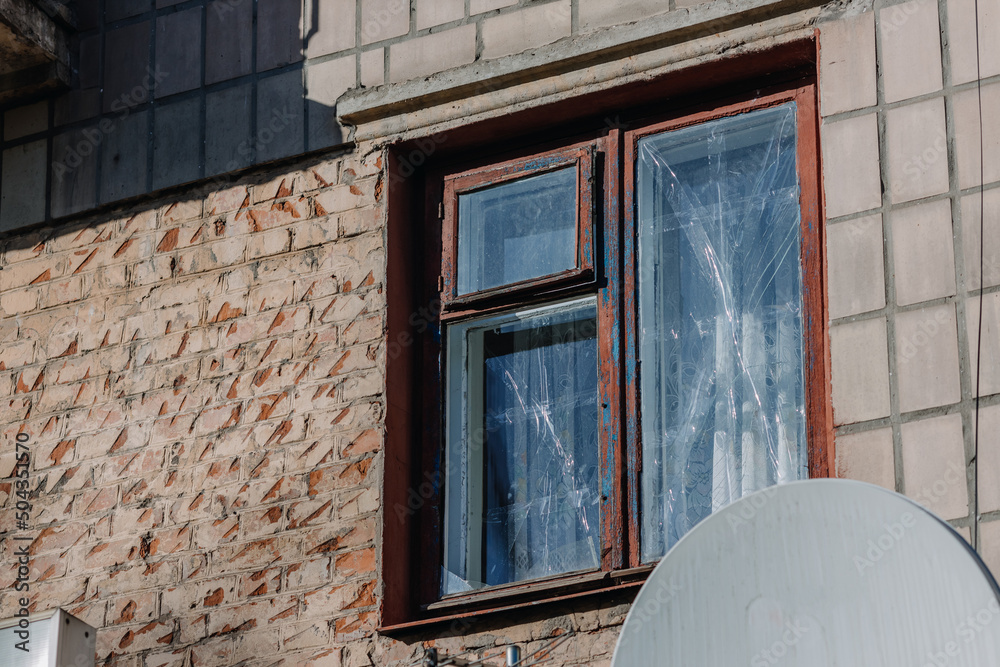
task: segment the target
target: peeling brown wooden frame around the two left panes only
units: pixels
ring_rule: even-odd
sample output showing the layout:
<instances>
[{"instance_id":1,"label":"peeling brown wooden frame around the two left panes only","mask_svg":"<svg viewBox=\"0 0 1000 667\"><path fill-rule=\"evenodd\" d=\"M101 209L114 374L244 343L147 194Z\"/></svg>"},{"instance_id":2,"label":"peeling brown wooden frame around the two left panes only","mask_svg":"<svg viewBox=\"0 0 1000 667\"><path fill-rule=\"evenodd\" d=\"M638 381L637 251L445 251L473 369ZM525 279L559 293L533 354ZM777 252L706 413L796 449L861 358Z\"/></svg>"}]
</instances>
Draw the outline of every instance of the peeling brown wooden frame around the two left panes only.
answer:
<instances>
[{"instance_id":1,"label":"peeling brown wooden frame around the two left panes only","mask_svg":"<svg viewBox=\"0 0 1000 667\"><path fill-rule=\"evenodd\" d=\"M530 282L517 284L515 286L497 288L477 293L469 305L469 302L454 304L454 309L449 312L447 309L446 294L449 287L449 278L442 281L444 286L440 296L443 305L439 316L442 325L441 343L437 348L430 351L432 358L438 359L438 365L433 369L433 374L438 378L435 387L435 395L441 398L437 402L426 405L426 409L437 411L443 419L445 413L443 398L444 383L444 329L449 324L465 321L468 319L482 317L484 315L506 312L511 309L521 308L531 305L539 305L556 302L561 299L596 296L597 302L597 329L598 329L598 401L601 411L598 415L598 442L600 443L599 461L601 465L600 475L600 538L602 547L612 545L612 548L602 548L600 554L601 566L597 571L574 572L566 575L532 580L525 582L514 582L500 586L490 586L478 591L463 594L451 594L439 599L430 600L435 597L431 591L431 586L424 586L422 598L424 602L422 608L427 611L441 609L456 609L480 605L483 601L505 600L511 597L518 597L523 593L545 591L553 588L552 582L561 582L558 588L565 586L584 585L589 586L598 580L606 578L606 573L620 569L624 551L621 546L624 544L624 525L622 511L623 500L621 479L624 474L622 468L622 424L620 418L620 406L622 404L622 377L623 369L621 363L621 346L613 345L613 340L621 339L621 253L618 239L621 236L621 212L619 210L619 198L616 196L606 197L603 193L617 193L619 190L620 170L618 169L618 157L621 154L621 134L620 132L609 133L607 136L596 137L587 141L571 144L570 146L557 151L540 152L524 159L508 161L496 165L487 165L460 172L455 176L437 175L429 180L428 198L433 199L438 188L444 184L443 190L443 212L444 219L441 222L441 268L442 272L447 271L450 266L454 266L454 260L449 260L449 253L454 253L457 248L455 241L457 229L454 217L448 219L449 210L452 216L457 216L457 193L460 188L481 188L489 184L494 184L497 180L491 177L495 174L502 174L504 181L511 181L516 178L544 173L553 168L569 164L567 158L579 160L578 164L585 164L584 168L578 171L578 186L581 192L578 200L578 230L590 227L593 231L588 231L583 242L578 242L578 257L580 257L581 267L579 270L570 272L571 275L557 274L555 276L540 278ZM613 158L613 159L609 159ZM558 166L551 166L552 162ZM548 164L546 164L548 162ZM610 164L612 163L613 164ZM541 163L541 169L522 169L529 165L537 167ZM547 167L547 168L546 168ZM597 183L601 183L601 188L597 188ZM449 187L451 185L451 187ZM457 186L457 187L456 187ZM598 192L600 191L600 192ZM587 194L594 193L594 196ZM578 236L580 239L581 236ZM586 244L593 247L594 239L601 239L599 256L584 257ZM594 261L596 259L596 261ZM429 260L430 261L430 260ZM449 261L452 263L449 264ZM589 266L588 266L589 265ZM595 280L595 275L600 276L600 281ZM600 285L598 284L600 282ZM464 308L459 309L459 306ZM607 332L607 333L604 333ZM430 369L427 369L430 371ZM428 392L430 394L430 392ZM438 427L438 435L434 436L429 443L425 443L425 452L430 458L439 452L444 456L446 446L443 427ZM429 451L428 451L429 450ZM442 464L443 465L443 464ZM442 489L444 483L441 483ZM443 495L443 492L442 492ZM440 525L443 520L444 506L441 505L441 515L435 518L435 522ZM442 526L443 530L443 526ZM441 545L443 550L443 545ZM443 554L440 556L443 562ZM440 571L440 570L438 570ZM437 583L436 581L434 582Z\"/></svg>"}]
</instances>

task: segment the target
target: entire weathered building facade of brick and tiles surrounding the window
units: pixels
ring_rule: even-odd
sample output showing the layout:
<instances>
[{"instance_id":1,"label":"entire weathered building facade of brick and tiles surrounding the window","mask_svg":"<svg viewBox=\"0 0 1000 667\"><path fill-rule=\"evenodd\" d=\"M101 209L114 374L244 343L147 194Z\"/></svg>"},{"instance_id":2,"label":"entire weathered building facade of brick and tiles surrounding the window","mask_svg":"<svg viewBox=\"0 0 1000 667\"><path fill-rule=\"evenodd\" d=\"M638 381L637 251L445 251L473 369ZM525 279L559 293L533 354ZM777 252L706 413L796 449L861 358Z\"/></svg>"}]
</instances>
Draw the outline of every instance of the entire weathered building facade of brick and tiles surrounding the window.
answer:
<instances>
[{"instance_id":1,"label":"entire weathered building facade of brick and tiles surrounding the window","mask_svg":"<svg viewBox=\"0 0 1000 667\"><path fill-rule=\"evenodd\" d=\"M426 472L387 475L394 290L422 279L393 197L451 151L786 70L818 93L828 473L1000 568L1000 2L976 8L80 0L69 89L3 110L0 617L31 535L31 608L99 628L102 665L608 664L634 587L379 630Z\"/></svg>"}]
</instances>

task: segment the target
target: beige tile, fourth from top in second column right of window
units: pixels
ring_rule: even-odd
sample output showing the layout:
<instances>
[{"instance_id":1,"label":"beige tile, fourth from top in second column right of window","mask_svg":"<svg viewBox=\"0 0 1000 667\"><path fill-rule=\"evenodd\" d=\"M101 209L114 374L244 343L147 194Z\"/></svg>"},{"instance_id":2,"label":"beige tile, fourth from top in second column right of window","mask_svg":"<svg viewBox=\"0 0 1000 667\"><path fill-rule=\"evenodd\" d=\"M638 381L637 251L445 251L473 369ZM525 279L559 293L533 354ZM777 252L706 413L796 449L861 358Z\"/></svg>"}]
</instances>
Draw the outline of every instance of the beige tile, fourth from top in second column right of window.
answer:
<instances>
[{"instance_id":1,"label":"beige tile, fourth from top in second column right of window","mask_svg":"<svg viewBox=\"0 0 1000 667\"><path fill-rule=\"evenodd\" d=\"M953 304L896 315L896 371L900 412L951 405L962 398Z\"/></svg>"}]
</instances>

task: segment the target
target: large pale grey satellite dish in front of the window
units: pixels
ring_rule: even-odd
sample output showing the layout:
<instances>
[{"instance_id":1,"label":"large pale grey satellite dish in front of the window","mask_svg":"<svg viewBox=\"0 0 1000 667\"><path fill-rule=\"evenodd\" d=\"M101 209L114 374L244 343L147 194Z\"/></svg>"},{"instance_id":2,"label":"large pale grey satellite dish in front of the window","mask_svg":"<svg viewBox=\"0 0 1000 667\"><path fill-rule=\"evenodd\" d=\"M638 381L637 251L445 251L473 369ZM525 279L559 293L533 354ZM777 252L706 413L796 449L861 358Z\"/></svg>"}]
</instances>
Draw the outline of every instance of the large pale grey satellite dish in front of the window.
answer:
<instances>
[{"instance_id":1,"label":"large pale grey satellite dish in front of the window","mask_svg":"<svg viewBox=\"0 0 1000 667\"><path fill-rule=\"evenodd\" d=\"M969 545L877 486L771 487L685 535L612 667L997 667L1000 589Z\"/></svg>"}]
</instances>

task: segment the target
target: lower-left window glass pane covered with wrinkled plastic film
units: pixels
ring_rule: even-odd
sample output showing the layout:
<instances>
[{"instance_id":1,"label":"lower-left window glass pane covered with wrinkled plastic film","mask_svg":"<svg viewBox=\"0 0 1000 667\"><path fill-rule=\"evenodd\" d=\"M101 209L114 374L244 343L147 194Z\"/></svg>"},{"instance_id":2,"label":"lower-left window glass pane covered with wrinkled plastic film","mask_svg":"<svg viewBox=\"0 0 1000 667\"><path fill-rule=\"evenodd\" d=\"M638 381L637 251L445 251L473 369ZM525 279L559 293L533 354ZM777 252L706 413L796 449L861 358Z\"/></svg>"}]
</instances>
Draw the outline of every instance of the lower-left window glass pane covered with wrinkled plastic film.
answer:
<instances>
[{"instance_id":1,"label":"lower-left window glass pane covered with wrinkled plastic film","mask_svg":"<svg viewBox=\"0 0 1000 667\"><path fill-rule=\"evenodd\" d=\"M443 593L599 566L593 298L448 330Z\"/></svg>"}]
</instances>

